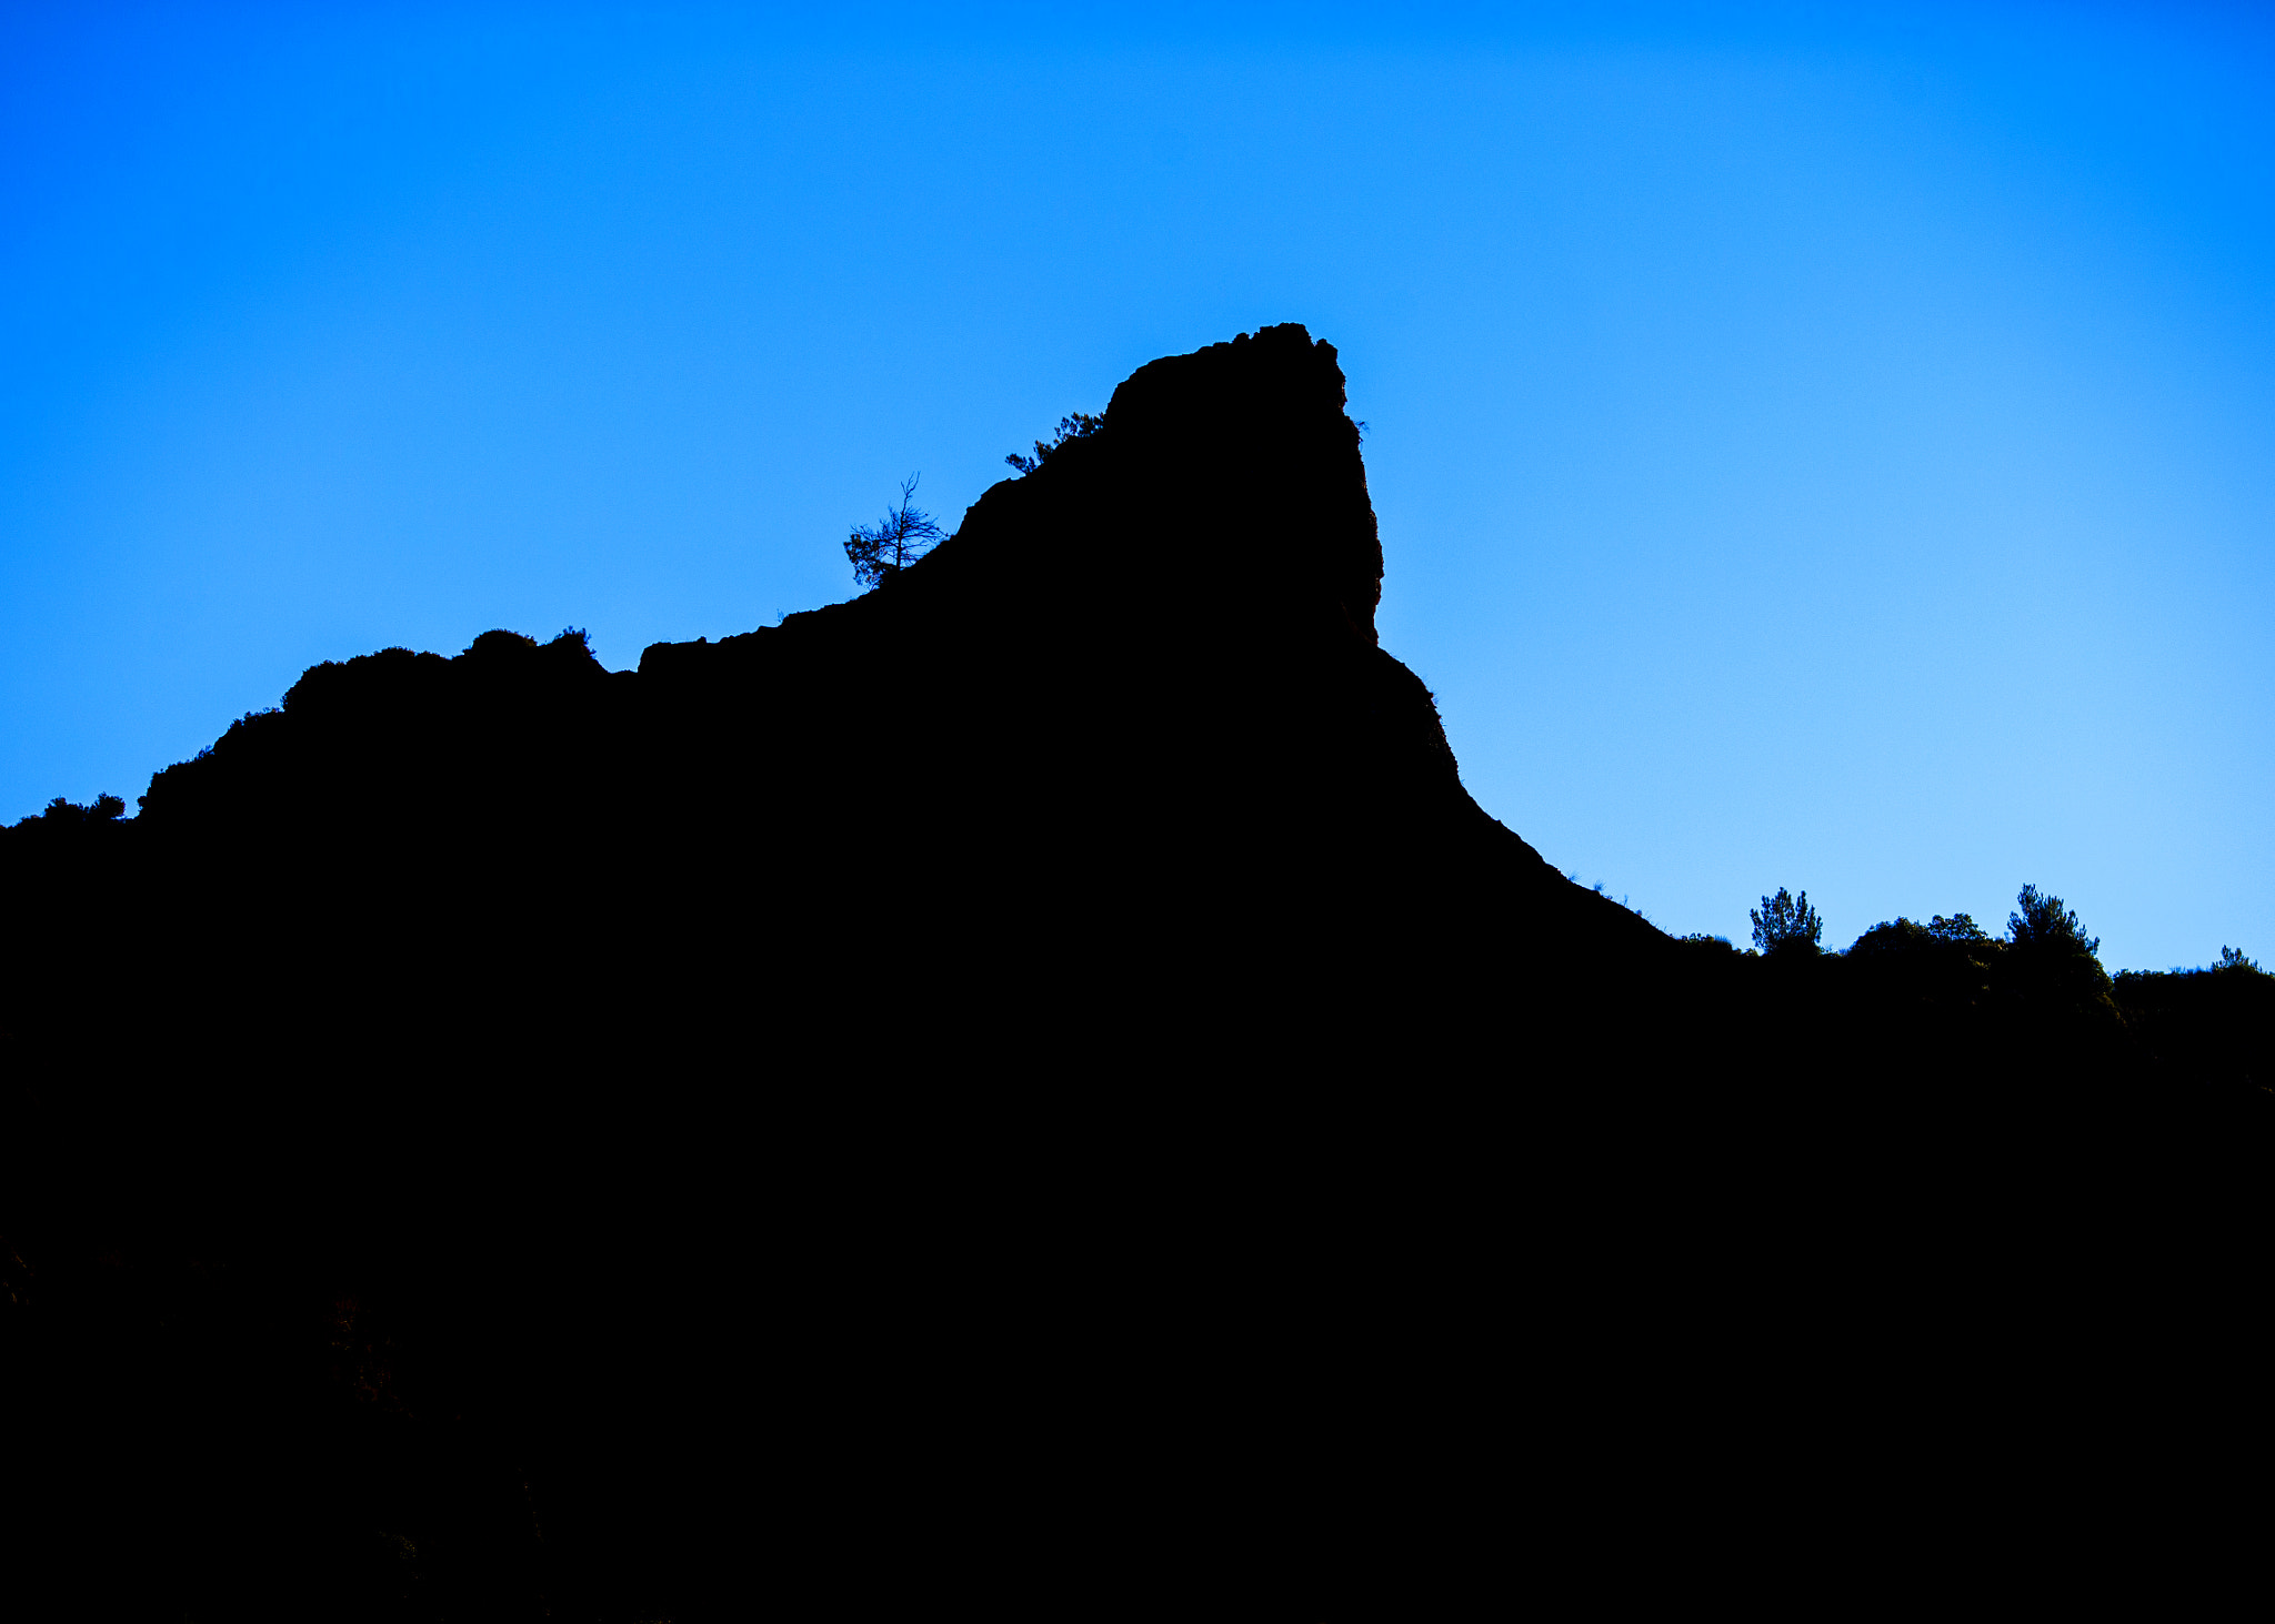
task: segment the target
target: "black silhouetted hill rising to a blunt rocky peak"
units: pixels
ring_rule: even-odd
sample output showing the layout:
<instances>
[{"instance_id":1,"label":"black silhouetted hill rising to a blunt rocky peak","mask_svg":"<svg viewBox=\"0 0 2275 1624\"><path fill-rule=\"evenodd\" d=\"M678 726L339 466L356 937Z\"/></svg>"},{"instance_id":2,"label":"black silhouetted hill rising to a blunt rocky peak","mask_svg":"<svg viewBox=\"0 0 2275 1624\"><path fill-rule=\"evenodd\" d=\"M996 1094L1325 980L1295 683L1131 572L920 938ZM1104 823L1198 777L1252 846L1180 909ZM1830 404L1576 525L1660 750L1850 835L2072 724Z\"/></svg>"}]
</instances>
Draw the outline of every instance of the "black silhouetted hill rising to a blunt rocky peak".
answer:
<instances>
[{"instance_id":1,"label":"black silhouetted hill rising to a blunt rocky peak","mask_svg":"<svg viewBox=\"0 0 2275 1624\"><path fill-rule=\"evenodd\" d=\"M1483 814L1342 405L1163 359L864 598L323 664L9 830L16 1583L1315 1617L2257 1240L2264 1001L1743 960ZM1870 1415L1790 1365L1868 1321Z\"/></svg>"}]
</instances>

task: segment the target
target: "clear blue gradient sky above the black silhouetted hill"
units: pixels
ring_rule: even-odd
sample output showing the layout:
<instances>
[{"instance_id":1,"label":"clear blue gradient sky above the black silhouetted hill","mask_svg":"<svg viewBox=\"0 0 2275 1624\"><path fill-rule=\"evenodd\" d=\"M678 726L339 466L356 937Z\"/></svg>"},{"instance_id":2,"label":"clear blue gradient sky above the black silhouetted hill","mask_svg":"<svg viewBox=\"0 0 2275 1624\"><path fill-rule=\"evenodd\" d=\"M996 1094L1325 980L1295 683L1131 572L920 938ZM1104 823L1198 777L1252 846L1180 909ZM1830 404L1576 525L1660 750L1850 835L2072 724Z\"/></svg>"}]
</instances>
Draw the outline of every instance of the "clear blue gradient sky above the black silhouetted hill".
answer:
<instances>
[{"instance_id":1,"label":"clear blue gradient sky above the black silhouetted hill","mask_svg":"<svg viewBox=\"0 0 2275 1624\"><path fill-rule=\"evenodd\" d=\"M901 475L1304 321L1558 867L2275 958L2275 32L1815 11L9 7L0 817L851 596Z\"/></svg>"}]
</instances>

